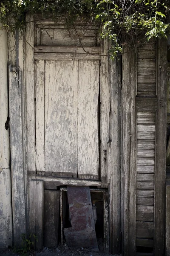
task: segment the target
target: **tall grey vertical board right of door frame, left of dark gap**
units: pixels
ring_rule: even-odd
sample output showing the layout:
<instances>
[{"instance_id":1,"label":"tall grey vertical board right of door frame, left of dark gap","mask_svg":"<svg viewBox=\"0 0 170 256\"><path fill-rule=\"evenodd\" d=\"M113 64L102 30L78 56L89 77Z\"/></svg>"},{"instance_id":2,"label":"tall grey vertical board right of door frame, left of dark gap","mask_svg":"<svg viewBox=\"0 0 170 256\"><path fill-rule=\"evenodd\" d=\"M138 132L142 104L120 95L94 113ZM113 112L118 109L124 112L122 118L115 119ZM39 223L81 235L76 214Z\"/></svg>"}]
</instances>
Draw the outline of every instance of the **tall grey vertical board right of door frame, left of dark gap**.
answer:
<instances>
[{"instance_id":1,"label":"tall grey vertical board right of door frame, left of dark gap","mask_svg":"<svg viewBox=\"0 0 170 256\"><path fill-rule=\"evenodd\" d=\"M110 61L111 111L110 139L112 140L112 172L110 184L111 253L121 252L121 63ZM107 155L108 159L108 155Z\"/></svg>"}]
</instances>

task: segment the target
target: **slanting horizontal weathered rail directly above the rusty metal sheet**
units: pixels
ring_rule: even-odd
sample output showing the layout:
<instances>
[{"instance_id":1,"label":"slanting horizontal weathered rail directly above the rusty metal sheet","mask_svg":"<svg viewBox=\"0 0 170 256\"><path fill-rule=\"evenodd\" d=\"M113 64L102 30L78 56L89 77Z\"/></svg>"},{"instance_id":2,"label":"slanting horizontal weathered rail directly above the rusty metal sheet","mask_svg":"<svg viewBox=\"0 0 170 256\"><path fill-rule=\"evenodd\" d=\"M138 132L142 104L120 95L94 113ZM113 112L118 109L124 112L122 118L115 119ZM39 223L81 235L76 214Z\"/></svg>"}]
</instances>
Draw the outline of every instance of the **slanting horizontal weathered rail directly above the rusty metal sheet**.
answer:
<instances>
[{"instance_id":1,"label":"slanting horizontal weathered rail directly above the rusty metal sheet","mask_svg":"<svg viewBox=\"0 0 170 256\"><path fill-rule=\"evenodd\" d=\"M79 180L71 178L59 178L59 177L45 177L37 175L38 180L43 180L44 183L51 183L51 186L101 186L100 180Z\"/></svg>"}]
</instances>

